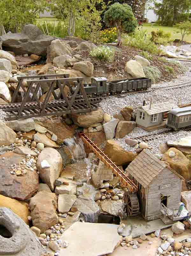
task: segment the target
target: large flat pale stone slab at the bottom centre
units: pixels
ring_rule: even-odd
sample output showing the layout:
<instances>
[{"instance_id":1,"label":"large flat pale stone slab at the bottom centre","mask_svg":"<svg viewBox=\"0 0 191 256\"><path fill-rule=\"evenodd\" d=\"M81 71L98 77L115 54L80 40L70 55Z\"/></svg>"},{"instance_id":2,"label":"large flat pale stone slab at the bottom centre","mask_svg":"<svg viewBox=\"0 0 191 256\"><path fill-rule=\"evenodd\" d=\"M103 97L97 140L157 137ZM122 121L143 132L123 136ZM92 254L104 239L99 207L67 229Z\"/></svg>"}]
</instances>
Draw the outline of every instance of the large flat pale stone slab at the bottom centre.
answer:
<instances>
[{"instance_id":1,"label":"large flat pale stone slab at the bottom centre","mask_svg":"<svg viewBox=\"0 0 191 256\"><path fill-rule=\"evenodd\" d=\"M101 256L113 252L120 241L117 227L114 224L75 222L61 237L69 245L61 248L60 256Z\"/></svg>"}]
</instances>

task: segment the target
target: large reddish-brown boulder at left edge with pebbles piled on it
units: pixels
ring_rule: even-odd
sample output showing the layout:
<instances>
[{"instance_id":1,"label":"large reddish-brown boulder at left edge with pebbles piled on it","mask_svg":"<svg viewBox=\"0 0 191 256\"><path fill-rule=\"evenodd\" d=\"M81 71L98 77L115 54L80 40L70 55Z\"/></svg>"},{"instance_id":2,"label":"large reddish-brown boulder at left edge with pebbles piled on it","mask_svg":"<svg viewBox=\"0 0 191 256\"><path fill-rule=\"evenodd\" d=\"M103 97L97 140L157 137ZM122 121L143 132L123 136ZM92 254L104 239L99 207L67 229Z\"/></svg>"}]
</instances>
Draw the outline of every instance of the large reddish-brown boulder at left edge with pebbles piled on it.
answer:
<instances>
[{"instance_id":1,"label":"large reddish-brown boulder at left edge with pebbles piled on it","mask_svg":"<svg viewBox=\"0 0 191 256\"><path fill-rule=\"evenodd\" d=\"M2 158L4 162L2 162ZM25 175L12 175L10 166L20 165L24 157L14 152L5 152L0 156L0 194L18 200L26 200L38 190L39 175L36 171L27 171Z\"/></svg>"}]
</instances>

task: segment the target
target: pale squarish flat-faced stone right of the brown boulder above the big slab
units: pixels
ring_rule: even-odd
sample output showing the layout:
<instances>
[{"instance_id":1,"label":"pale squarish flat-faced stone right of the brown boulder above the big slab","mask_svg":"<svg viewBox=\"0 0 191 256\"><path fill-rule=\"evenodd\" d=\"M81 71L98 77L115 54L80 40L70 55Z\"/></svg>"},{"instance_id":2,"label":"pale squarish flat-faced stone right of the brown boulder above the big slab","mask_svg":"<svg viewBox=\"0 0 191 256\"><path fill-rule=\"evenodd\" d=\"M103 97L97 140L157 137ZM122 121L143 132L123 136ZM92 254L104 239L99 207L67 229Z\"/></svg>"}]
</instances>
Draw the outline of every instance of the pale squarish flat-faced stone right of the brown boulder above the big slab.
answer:
<instances>
[{"instance_id":1,"label":"pale squarish flat-faced stone right of the brown boulder above the big slab","mask_svg":"<svg viewBox=\"0 0 191 256\"><path fill-rule=\"evenodd\" d=\"M58 197L58 211L59 213L67 213L76 201L75 195L62 194Z\"/></svg>"}]
</instances>

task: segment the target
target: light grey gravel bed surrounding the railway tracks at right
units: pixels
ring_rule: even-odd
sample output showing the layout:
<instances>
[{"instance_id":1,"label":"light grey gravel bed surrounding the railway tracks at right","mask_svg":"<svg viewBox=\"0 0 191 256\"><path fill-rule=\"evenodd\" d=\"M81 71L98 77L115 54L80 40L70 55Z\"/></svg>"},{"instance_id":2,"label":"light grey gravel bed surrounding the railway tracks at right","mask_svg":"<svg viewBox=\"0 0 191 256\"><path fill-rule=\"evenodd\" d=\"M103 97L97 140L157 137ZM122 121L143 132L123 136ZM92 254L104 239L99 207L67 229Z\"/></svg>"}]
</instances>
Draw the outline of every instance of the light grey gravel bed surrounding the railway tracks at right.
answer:
<instances>
[{"instance_id":1,"label":"light grey gravel bed surrounding the railway tracks at right","mask_svg":"<svg viewBox=\"0 0 191 256\"><path fill-rule=\"evenodd\" d=\"M191 67L191 62L180 62L183 66L187 66L189 69ZM186 81L191 81L191 72L187 71L185 74L180 75L177 79L174 79L170 82L162 82L159 84L153 84L152 87L159 87L159 86L169 86L169 85L175 85L179 83L183 83ZM125 107L133 107L134 109L137 109L138 107L142 106L143 101L145 100L147 103L150 101L150 98L152 97L152 103L157 102L164 102L164 101L173 101L175 104L178 104L178 99L180 98L180 104L187 104L191 103L191 86L190 87L183 87L183 88L177 88L177 89L160 89L160 90L154 90L152 92L145 92L145 93L137 93L132 95L127 95L126 97L115 97L110 96L105 99L103 99L100 102L100 107L104 112L107 112L111 116L115 113L119 113L120 110ZM160 129L160 130L165 130ZM157 132L152 131L152 132ZM127 150L136 152L136 149L134 147L130 147L125 143L125 138L131 138L135 136L141 136L144 134L148 134L148 131L145 131L141 128L136 127L130 134L126 135L122 139L115 139L119 142L120 146ZM165 135L159 136L157 139L154 139L152 141L148 142L148 146L151 147L150 151L154 153L160 153L158 151L159 144L164 143L166 141L176 141L179 140L181 137L185 136L191 136L191 131L176 131L172 133L168 133Z\"/></svg>"}]
</instances>

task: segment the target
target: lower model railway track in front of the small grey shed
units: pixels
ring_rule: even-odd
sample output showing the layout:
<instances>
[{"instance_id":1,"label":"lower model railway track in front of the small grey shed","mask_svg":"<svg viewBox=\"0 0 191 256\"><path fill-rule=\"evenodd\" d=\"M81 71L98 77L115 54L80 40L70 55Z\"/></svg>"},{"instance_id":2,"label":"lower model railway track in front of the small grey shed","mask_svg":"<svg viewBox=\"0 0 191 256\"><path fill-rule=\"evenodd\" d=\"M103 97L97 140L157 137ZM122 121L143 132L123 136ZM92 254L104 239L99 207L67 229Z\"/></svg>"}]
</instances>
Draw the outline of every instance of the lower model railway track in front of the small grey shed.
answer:
<instances>
[{"instance_id":1,"label":"lower model railway track in front of the small grey shed","mask_svg":"<svg viewBox=\"0 0 191 256\"><path fill-rule=\"evenodd\" d=\"M181 128L180 130L191 131L191 126ZM171 132L178 132L178 131L174 131L173 129L166 129L165 131L152 132L152 133L147 133L147 134L137 136L137 137L131 137L131 139L138 140L138 141L144 141L144 142L147 141L147 142L149 142L151 140L157 139L159 136L163 136L163 135L166 135L166 134L171 133Z\"/></svg>"}]
</instances>

